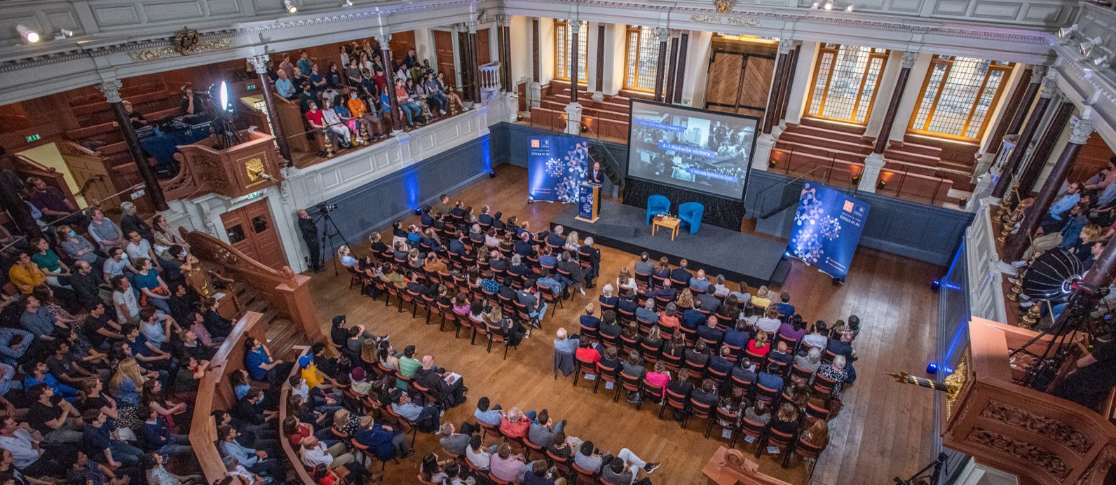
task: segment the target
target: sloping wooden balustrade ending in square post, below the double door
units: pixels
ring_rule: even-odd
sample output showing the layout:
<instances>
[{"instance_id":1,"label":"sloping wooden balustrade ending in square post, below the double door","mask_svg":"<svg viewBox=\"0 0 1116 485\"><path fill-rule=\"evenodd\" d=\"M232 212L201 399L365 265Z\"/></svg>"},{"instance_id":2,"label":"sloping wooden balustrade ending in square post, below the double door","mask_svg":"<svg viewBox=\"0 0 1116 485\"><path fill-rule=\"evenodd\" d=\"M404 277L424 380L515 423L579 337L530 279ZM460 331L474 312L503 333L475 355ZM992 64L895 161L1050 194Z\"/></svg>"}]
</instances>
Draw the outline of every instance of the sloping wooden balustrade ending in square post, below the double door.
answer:
<instances>
[{"instance_id":1,"label":"sloping wooden balustrade ending in square post, below the double door","mask_svg":"<svg viewBox=\"0 0 1116 485\"><path fill-rule=\"evenodd\" d=\"M275 270L246 256L228 243L203 232L179 229L190 243L191 254L220 266L224 274L249 285L270 303L280 317L290 319L310 341L324 341L308 283L310 277L296 274L290 266Z\"/></svg>"}]
</instances>

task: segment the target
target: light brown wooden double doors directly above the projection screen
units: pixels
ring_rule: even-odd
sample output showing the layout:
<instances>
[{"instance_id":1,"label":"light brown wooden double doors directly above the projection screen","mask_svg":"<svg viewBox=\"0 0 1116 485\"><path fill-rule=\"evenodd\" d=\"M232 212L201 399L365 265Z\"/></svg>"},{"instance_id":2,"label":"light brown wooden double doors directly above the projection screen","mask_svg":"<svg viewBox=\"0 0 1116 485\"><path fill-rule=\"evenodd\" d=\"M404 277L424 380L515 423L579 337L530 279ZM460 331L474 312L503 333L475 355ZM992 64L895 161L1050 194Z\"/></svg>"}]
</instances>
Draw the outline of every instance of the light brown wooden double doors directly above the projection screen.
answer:
<instances>
[{"instance_id":1,"label":"light brown wooden double doors directly above the projection screen","mask_svg":"<svg viewBox=\"0 0 1116 485\"><path fill-rule=\"evenodd\" d=\"M705 84L705 109L763 116L775 56L713 48Z\"/></svg>"}]
</instances>

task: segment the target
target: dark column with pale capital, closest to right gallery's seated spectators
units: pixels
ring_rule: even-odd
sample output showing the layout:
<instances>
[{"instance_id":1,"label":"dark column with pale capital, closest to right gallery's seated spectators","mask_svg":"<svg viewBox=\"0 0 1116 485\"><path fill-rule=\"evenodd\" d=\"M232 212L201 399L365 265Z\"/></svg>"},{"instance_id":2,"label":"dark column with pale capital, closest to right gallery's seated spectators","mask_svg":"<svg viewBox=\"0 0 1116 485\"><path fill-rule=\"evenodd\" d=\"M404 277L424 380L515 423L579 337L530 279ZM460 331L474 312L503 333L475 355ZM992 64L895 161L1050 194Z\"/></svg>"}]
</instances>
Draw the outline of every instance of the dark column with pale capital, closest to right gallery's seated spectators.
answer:
<instances>
[{"instance_id":1,"label":"dark column with pale capital, closest to right gallery's seated spectators","mask_svg":"<svg viewBox=\"0 0 1116 485\"><path fill-rule=\"evenodd\" d=\"M1008 243L1008 248L1003 250L1003 256L1000 259L1000 268L1006 271L1014 272L1016 268L1011 263L1018 264L1019 261L1023 261L1030 256L1030 254L1024 253L1027 248L1031 245L1031 237L1035 236L1035 232L1038 230L1039 224L1042 223L1043 216L1050 210L1050 205L1054 204L1055 197L1058 196L1058 191L1061 188L1062 182L1066 182L1066 177L1069 176L1069 171L1074 167L1074 162L1077 159L1077 154L1081 151L1081 146L1089 140L1089 135L1093 134L1093 122L1088 119L1071 117L1069 123L1074 126L1072 132L1069 134L1069 143L1062 148L1061 155L1058 156L1058 162L1050 169L1050 175L1047 176L1042 188L1039 190L1039 194L1035 197L1035 205L1030 208L1030 215L1023 219L1023 222L1019 225L1019 231L1012 236L1011 242ZM1007 174L1004 172L1004 176ZM1105 253L1107 254L1114 246L1116 245L1109 244L1108 248L1105 248ZM1110 280L1112 277L1108 277L1108 281L1104 282L1103 285L1107 285Z\"/></svg>"}]
</instances>

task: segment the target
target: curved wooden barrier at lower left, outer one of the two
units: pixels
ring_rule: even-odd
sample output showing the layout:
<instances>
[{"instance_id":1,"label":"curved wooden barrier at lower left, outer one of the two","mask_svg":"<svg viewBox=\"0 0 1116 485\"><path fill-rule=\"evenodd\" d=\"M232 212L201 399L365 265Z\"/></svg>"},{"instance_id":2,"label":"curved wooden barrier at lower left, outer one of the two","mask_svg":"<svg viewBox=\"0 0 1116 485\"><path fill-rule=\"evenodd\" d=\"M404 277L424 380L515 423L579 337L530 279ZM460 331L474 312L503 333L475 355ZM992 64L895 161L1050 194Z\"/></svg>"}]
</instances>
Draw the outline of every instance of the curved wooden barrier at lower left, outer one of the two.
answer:
<instances>
[{"instance_id":1,"label":"curved wooden barrier at lower left, outer one of the two","mask_svg":"<svg viewBox=\"0 0 1116 485\"><path fill-rule=\"evenodd\" d=\"M194 448L206 483L220 482L225 476L221 453L217 447L217 423L212 413L215 409L232 409L237 404L237 397L225 376L244 368L244 339L254 337L260 341L266 340L266 329L262 324L257 324L262 317L260 313L247 312L237 321L211 360L214 367L219 366L218 369L206 372L198 384L198 398L193 402L194 416L190 425L190 445Z\"/></svg>"}]
</instances>

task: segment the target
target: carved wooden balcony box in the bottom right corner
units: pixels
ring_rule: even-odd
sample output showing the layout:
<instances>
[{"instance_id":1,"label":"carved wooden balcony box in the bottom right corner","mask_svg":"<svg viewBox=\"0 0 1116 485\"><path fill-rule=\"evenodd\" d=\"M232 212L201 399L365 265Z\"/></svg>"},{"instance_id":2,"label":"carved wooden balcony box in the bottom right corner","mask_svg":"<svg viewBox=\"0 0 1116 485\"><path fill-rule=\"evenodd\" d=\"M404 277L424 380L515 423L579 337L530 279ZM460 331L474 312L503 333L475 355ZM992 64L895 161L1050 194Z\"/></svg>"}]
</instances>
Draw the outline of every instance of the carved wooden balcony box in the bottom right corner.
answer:
<instances>
[{"instance_id":1,"label":"carved wooden balcony box in the bottom right corner","mask_svg":"<svg viewBox=\"0 0 1116 485\"><path fill-rule=\"evenodd\" d=\"M946 378L944 446L1019 477L1021 484L1108 484L1116 425L1094 409L1020 386L1028 358L1013 349L1031 330L974 318L969 347ZM1041 349L1051 337L1039 339ZM1076 343L1076 342L1075 342Z\"/></svg>"}]
</instances>

